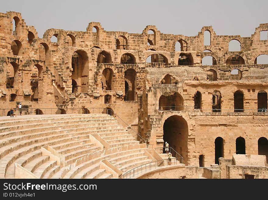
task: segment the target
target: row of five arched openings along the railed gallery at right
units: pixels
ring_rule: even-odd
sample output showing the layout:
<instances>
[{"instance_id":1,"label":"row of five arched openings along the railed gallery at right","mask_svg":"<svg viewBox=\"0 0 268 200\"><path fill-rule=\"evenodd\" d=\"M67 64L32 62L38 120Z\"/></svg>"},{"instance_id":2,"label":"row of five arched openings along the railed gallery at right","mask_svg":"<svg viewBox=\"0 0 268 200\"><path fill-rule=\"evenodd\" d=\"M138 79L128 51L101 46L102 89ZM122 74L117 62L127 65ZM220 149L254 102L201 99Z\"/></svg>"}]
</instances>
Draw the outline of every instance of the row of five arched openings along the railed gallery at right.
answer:
<instances>
[{"instance_id":1,"label":"row of five arched openings along the railed gallery at right","mask_svg":"<svg viewBox=\"0 0 268 200\"><path fill-rule=\"evenodd\" d=\"M197 91L193 97L194 109L202 109L202 94ZM221 112L221 93L212 94L212 112ZM258 112L267 112L267 93L259 91L257 95ZM159 98L160 111L183 111L183 97L178 92L166 92ZM244 112L244 94L241 90L234 92L234 112Z\"/></svg>"}]
</instances>

